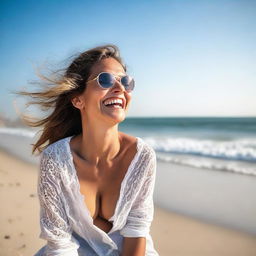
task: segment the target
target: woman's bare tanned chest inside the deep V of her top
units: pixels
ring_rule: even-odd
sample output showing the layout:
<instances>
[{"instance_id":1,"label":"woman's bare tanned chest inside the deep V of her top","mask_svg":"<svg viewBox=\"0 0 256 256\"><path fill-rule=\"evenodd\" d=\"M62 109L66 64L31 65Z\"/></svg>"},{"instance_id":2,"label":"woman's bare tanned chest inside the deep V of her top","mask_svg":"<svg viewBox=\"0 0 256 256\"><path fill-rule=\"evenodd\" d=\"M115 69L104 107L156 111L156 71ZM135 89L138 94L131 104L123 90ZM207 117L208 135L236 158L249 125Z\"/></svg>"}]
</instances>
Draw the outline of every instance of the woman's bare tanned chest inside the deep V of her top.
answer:
<instances>
[{"instance_id":1,"label":"woman's bare tanned chest inside the deep V of her top","mask_svg":"<svg viewBox=\"0 0 256 256\"><path fill-rule=\"evenodd\" d=\"M84 161L75 163L80 184L80 193L84 195L85 207L89 211L94 224L108 232L112 223L109 219L114 215L119 200L123 181L136 154L136 148L126 152L122 157L99 167L89 166Z\"/></svg>"}]
</instances>

